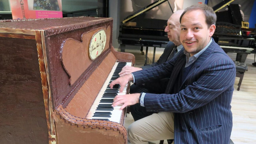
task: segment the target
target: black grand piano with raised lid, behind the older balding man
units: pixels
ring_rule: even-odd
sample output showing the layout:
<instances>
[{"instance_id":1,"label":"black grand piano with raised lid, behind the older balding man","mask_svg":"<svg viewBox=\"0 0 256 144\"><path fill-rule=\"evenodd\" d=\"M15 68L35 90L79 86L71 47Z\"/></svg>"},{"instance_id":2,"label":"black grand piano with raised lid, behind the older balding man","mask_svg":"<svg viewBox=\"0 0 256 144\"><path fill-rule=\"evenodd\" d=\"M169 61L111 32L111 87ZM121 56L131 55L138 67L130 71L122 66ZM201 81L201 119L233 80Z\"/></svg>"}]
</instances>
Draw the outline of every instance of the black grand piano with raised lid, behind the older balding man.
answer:
<instances>
[{"instance_id":1,"label":"black grand piano with raised lid, behind the older balding man","mask_svg":"<svg viewBox=\"0 0 256 144\"><path fill-rule=\"evenodd\" d=\"M170 7L170 14L173 13L172 7L168 0L157 0L147 5L146 7L134 12L127 16L121 24L119 29L118 43L121 47L121 52L125 51L125 45L140 46L141 54L143 55L143 47L146 47L147 64L147 51L148 47L154 47L153 63L155 57L155 48L165 48L169 39L165 33L167 19L151 19L145 18L147 12L161 4L168 4Z\"/></svg>"}]
</instances>

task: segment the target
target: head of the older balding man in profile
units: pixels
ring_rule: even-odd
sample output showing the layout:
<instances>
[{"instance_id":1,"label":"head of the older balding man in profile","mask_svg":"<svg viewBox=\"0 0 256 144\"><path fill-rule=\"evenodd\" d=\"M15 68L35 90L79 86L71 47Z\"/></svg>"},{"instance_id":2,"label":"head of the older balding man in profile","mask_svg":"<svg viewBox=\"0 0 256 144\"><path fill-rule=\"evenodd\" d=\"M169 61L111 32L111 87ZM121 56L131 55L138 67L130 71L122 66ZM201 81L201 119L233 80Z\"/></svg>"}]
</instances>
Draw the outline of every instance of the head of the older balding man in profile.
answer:
<instances>
[{"instance_id":1,"label":"head of the older balding man in profile","mask_svg":"<svg viewBox=\"0 0 256 144\"><path fill-rule=\"evenodd\" d=\"M172 41L175 45L180 45L180 15L173 14L167 20L167 26L165 27L165 32L168 35L170 41Z\"/></svg>"}]
</instances>

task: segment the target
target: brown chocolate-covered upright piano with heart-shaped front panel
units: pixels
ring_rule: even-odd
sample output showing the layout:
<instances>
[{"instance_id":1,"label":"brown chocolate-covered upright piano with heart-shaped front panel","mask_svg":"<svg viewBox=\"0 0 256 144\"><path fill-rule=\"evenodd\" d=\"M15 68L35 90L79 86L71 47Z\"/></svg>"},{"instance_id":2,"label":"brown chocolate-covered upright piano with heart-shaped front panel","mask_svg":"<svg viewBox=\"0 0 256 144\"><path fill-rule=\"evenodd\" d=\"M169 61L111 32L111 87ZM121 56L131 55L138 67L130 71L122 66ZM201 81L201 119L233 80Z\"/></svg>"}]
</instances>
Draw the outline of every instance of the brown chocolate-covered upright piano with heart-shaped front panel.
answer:
<instances>
[{"instance_id":1,"label":"brown chocolate-covered upright piano with heart-shaped front panel","mask_svg":"<svg viewBox=\"0 0 256 144\"><path fill-rule=\"evenodd\" d=\"M112 23L0 21L1 143L127 143L126 110L111 106L118 86L108 84L135 57L114 50Z\"/></svg>"}]
</instances>

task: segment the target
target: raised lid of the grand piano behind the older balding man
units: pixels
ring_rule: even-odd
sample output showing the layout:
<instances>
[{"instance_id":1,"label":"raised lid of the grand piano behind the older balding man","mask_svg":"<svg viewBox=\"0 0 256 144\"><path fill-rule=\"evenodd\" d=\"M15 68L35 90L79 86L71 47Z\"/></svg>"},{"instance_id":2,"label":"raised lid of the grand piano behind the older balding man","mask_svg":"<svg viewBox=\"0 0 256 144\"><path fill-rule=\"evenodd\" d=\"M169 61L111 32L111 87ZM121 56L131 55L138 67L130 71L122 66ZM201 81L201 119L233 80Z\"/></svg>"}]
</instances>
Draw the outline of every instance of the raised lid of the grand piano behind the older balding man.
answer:
<instances>
[{"instance_id":1,"label":"raised lid of the grand piano behind the older balding man","mask_svg":"<svg viewBox=\"0 0 256 144\"><path fill-rule=\"evenodd\" d=\"M143 13L145 13L145 12L147 12L147 11L149 11L149 10L155 8L155 7L157 7L158 5L164 3L165 1L168 1L168 0L157 0L157 1L155 1L154 3L151 3L150 5L147 5L146 7L144 7L144 8L142 8L142 9L140 9L140 10L134 12L133 14L131 14L131 15L129 15L129 16L127 16L127 18L126 18L125 20L123 20L123 21L121 22L121 24L124 24L124 23L126 23L126 22L128 22L128 21L130 21L130 20L132 20L132 19L134 19L134 18L136 18L136 17L138 17L139 15L141 15L141 14L143 14ZM169 3L169 1L168 1L168 3ZM170 5L170 3L169 3L169 5ZM171 8L171 10L172 10L171 5L170 5L170 8ZM173 10L172 10L172 11L173 11Z\"/></svg>"}]
</instances>

